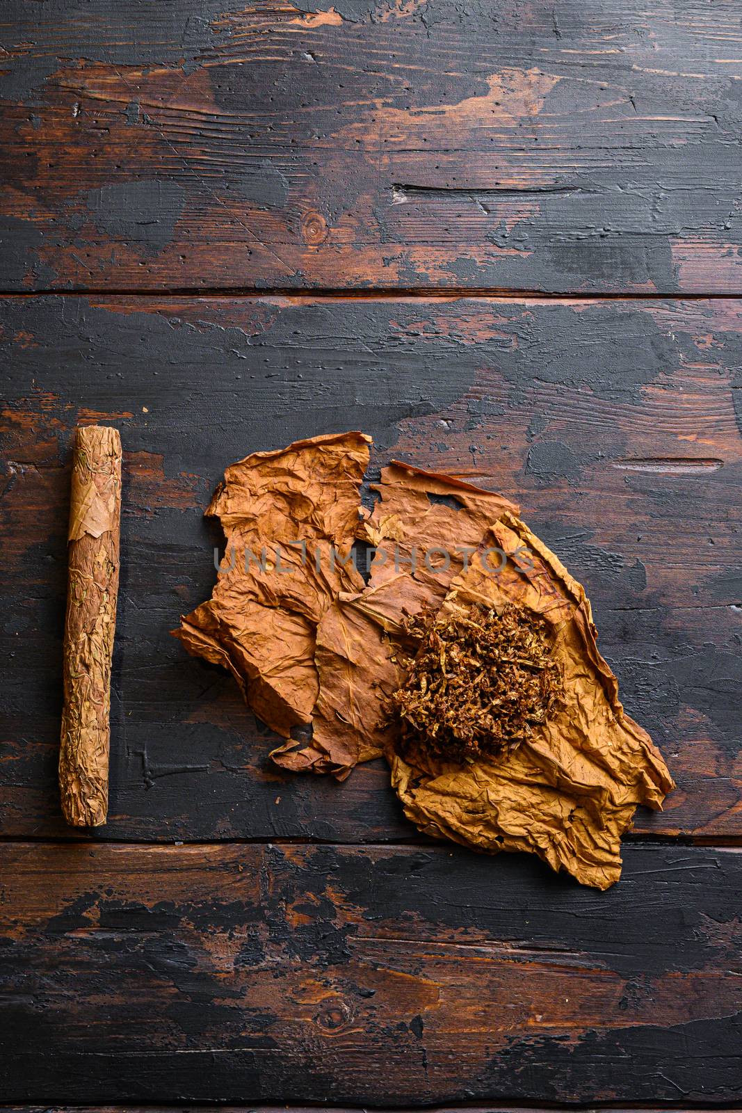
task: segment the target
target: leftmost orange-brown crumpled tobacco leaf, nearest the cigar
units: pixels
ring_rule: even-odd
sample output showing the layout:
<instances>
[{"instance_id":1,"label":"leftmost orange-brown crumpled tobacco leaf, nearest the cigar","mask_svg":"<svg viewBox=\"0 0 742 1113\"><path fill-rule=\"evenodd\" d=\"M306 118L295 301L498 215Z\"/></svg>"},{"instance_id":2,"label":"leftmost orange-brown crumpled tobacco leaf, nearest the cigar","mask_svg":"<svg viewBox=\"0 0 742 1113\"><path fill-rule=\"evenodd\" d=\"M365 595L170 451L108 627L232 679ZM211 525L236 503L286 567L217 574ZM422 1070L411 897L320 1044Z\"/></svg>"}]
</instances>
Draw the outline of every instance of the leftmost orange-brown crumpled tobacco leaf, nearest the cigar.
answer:
<instances>
[{"instance_id":1,"label":"leftmost orange-brown crumpled tobacco leaf, nearest the cigar","mask_svg":"<svg viewBox=\"0 0 742 1113\"><path fill-rule=\"evenodd\" d=\"M328 553L334 545L347 556L353 544L369 443L354 432L256 452L227 469L206 511L221 522L225 556L211 598L172 632L229 669L285 738L311 722L317 623L340 591L364 587L353 564L330 564Z\"/></svg>"}]
</instances>

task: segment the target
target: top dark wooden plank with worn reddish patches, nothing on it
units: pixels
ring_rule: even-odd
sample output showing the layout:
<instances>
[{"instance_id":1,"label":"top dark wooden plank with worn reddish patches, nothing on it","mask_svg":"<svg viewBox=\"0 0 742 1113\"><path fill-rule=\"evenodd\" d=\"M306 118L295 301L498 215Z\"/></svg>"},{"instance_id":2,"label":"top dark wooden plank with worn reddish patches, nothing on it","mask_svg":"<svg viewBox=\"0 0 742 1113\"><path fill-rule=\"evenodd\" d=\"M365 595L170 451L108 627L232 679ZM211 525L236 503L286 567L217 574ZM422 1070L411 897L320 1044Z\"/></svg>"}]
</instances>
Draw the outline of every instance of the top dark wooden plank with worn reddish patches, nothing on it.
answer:
<instances>
[{"instance_id":1,"label":"top dark wooden plank with worn reddish patches, nothing on it","mask_svg":"<svg viewBox=\"0 0 742 1113\"><path fill-rule=\"evenodd\" d=\"M0 288L742 292L730 0L6 4Z\"/></svg>"}]
</instances>

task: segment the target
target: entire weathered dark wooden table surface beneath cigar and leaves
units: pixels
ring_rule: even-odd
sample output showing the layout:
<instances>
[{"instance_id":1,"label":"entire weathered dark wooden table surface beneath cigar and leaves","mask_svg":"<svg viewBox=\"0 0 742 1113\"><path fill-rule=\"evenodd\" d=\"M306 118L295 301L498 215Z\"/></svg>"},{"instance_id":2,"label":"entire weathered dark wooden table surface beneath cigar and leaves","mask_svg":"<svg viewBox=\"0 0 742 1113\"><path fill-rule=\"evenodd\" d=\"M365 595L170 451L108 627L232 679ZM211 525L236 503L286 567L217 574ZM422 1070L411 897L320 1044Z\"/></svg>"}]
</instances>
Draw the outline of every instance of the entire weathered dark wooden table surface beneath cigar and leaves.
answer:
<instances>
[{"instance_id":1,"label":"entire weathered dark wooden table surface beneath cigar and leaves","mask_svg":"<svg viewBox=\"0 0 742 1113\"><path fill-rule=\"evenodd\" d=\"M742 1104L738 0L18 0L0 98L0 1102ZM89 834L78 422L126 449ZM281 774L169 637L225 466L346 429L585 584L679 786L609 892Z\"/></svg>"}]
</instances>

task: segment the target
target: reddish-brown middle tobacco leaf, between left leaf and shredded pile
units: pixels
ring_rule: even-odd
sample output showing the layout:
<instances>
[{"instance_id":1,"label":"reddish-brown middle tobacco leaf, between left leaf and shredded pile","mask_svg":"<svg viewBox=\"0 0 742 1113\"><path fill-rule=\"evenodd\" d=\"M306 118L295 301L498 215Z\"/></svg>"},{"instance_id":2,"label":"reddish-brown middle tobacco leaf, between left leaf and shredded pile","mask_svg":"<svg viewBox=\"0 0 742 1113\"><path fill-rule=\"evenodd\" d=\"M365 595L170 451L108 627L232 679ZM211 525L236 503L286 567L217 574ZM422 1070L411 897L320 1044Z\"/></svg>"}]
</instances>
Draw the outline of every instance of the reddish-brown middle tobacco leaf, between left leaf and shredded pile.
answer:
<instances>
[{"instance_id":1,"label":"reddish-brown middle tobacco leaf, between left leaf and shredded pile","mask_svg":"<svg viewBox=\"0 0 742 1113\"><path fill-rule=\"evenodd\" d=\"M396 460L373 490L379 501L358 530L376 550L370 580L359 594L340 594L319 621L311 743L290 756L290 768L340 780L359 761L393 750L386 703L402 682L404 614L437 609L489 522L517 511L502 495Z\"/></svg>"}]
</instances>

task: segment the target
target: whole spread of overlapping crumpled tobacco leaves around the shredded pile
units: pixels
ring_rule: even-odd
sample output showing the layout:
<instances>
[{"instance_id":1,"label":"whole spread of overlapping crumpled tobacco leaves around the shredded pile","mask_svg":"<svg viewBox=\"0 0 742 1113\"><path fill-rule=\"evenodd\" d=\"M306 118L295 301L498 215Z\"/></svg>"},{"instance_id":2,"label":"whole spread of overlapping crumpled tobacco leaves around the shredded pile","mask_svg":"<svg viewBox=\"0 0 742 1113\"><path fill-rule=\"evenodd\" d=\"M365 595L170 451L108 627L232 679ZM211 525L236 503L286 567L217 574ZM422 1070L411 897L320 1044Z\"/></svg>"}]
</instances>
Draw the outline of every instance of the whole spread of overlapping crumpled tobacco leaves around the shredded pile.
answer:
<instances>
[{"instance_id":1,"label":"whole spread of overlapping crumpled tobacco leaves around the shredded pile","mask_svg":"<svg viewBox=\"0 0 742 1113\"><path fill-rule=\"evenodd\" d=\"M479 850L531 850L606 888L620 876L620 839L636 805L660 808L674 786L619 701L583 588L517 506L452 476L393 461L373 513L364 512L368 442L319 436L228 469L207 511L227 534L218 582L174 632L226 664L256 713L288 739L271 755L284 768L342 780L384 754L421 830ZM288 574L229 570L233 544L255 553L304 540L345 553L354 536L375 548L367 585L350 563L330 569L326 553L303 561L296 548ZM414 653L408 617L508 602L548 624L564 679L558 710L517 749L469 764L403 747L388 707ZM310 737L293 738L297 727Z\"/></svg>"}]
</instances>

